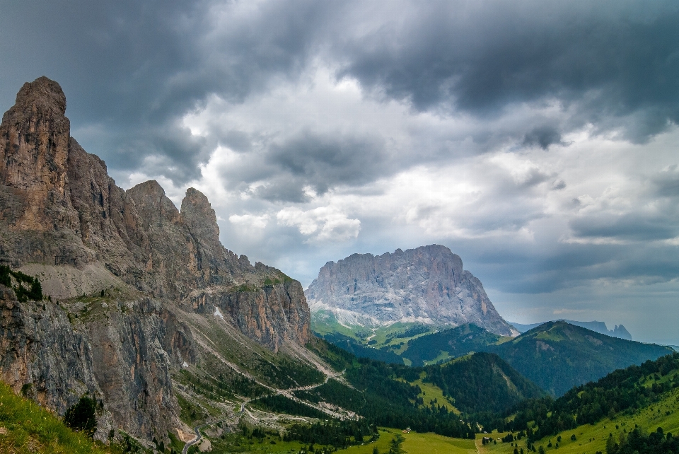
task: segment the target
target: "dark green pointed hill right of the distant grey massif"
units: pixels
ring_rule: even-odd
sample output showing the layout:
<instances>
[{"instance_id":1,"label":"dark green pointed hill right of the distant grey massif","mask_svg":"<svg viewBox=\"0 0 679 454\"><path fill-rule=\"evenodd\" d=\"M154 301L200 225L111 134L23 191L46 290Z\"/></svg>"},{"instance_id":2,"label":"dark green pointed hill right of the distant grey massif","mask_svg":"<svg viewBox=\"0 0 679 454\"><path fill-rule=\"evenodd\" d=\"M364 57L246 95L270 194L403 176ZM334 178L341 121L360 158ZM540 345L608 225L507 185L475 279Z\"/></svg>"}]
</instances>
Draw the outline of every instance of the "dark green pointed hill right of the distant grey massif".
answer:
<instances>
[{"instance_id":1,"label":"dark green pointed hill right of the distant grey massif","mask_svg":"<svg viewBox=\"0 0 679 454\"><path fill-rule=\"evenodd\" d=\"M566 322L547 322L487 351L497 353L556 396L616 369L673 352L668 347L618 339Z\"/></svg>"}]
</instances>

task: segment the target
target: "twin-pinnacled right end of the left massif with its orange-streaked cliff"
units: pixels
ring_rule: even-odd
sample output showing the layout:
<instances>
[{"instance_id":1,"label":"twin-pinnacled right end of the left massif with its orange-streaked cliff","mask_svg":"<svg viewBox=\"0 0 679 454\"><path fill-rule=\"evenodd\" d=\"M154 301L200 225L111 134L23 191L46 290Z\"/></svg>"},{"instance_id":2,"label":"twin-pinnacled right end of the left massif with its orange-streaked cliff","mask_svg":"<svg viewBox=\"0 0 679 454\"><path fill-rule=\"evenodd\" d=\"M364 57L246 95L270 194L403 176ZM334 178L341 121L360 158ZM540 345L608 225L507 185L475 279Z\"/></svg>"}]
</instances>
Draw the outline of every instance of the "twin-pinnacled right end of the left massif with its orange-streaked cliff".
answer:
<instances>
[{"instance_id":1,"label":"twin-pinnacled right end of the left massif with its orange-streaked cliff","mask_svg":"<svg viewBox=\"0 0 679 454\"><path fill-rule=\"evenodd\" d=\"M156 296L201 313L221 308L244 334L274 350L286 341L308 342L311 314L301 284L226 250L207 197L190 188L180 212L155 181L127 194L146 233L144 284Z\"/></svg>"}]
</instances>

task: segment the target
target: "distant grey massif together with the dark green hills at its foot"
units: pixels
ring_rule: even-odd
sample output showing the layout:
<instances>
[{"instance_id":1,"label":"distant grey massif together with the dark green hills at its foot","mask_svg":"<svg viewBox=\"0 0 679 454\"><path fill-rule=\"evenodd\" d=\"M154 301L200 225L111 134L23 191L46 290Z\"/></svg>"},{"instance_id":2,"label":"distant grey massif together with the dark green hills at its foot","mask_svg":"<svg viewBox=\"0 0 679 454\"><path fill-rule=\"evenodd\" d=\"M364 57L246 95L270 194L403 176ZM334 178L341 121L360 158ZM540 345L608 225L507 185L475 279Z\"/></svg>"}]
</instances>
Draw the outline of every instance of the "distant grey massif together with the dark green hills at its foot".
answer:
<instances>
[{"instance_id":1,"label":"distant grey massif together with the dark green hills at its foot","mask_svg":"<svg viewBox=\"0 0 679 454\"><path fill-rule=\"evenodd\" d=\"M622 325L511 325L460 257L441 245L328 262L305 294L312 331L356 356L426 366L485 351L555 396L672 352L633 342Z\"/></svg>"}]
</instances>

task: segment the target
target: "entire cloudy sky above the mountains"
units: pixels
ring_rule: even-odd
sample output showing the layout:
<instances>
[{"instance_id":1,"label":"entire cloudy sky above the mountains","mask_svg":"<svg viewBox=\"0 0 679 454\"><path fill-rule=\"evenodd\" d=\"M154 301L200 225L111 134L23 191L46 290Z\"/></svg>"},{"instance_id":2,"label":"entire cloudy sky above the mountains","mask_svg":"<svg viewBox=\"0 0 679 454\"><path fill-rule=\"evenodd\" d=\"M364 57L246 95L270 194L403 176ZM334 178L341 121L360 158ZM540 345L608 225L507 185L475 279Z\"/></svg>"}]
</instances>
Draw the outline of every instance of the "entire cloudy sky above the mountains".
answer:
<instances>
[{"instance_id":1,"label":"entire cloudy sky above the mountains","mask_svg":"<svg viewBox=\"0 0 679 454\"><path fill-rule=\"evenodd\" d=\"M0 0L0 110L43 75L118 185L305 288L437 243L506 320L679 345L676 1Z\"/></svg>"}]
</instances>

